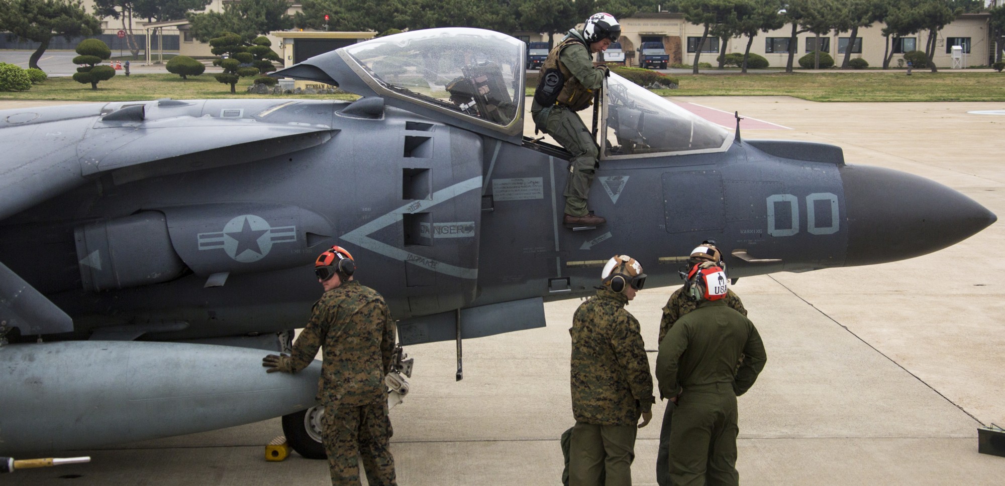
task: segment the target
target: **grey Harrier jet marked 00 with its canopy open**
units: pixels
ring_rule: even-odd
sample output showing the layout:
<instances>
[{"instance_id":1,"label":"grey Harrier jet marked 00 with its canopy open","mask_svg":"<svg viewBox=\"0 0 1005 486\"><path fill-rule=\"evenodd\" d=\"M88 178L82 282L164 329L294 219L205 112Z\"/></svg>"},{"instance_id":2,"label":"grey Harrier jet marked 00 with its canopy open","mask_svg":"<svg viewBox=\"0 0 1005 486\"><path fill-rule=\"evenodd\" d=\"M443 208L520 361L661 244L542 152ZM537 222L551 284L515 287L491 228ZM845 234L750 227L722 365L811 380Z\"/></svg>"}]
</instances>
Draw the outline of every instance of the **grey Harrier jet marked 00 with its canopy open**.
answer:
<instances>
[{"instance_id":1,"label":"grey Harrier jet marked 00 with its canopy open","mask_svg":"<svg viewBox=\"0 0 1005 486\"><path fill-rule=\"evenodd\" d=\"M160 99L0 111L0 454L87 449L271 417L317 457L313 373L266 375L338 244L405 345L545 325L615 252L678 283L696 241L731 278L868 265L996 220L840 148L741 140L612 74L591 205L525 134L525 45L407 32L279 71L354 101ZM213 345L210 345L213 344ZM459 365L459 353L458 353ZM458 368L458 378L459 378Z\"/></svg>"}]
</instances>

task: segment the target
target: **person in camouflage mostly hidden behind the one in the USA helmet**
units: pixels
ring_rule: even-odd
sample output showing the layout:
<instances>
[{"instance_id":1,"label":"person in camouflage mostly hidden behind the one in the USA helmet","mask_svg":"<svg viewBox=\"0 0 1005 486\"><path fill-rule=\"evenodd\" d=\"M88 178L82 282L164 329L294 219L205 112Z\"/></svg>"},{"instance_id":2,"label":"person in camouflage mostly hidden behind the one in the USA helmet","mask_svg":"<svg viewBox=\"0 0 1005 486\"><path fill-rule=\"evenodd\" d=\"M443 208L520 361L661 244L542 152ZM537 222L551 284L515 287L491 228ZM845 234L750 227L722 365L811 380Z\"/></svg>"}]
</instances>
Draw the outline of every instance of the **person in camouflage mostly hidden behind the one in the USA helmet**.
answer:
<instances>
[{"instance_id":1,"label":"person in camouflage mostly hidden behind the one in the USA helmet","mask_svg":"<svg viewBox=\"0 0 1005 486\"><path fill-rule=\"evenodd\" d=\"M687 259L687 273L694 268L695 265L702 262L714 262L721 268L725 269L726 264L723 262L722 252L716 247L715 242L702 241L700 245L691 250L690 257ZM726 305L736 309L747 315L747 309L744 308L743 302L740 297L733 292L732 289L726 289L726 297L723 297L726 301ZM687 294L687 286L684 285L673 291L670 298L666 301L666 305L663 306L663 317L659 321L659 337L656 343L663 341L663 337L666 336L666 332L670 330L673 323L677 321L682 315L694 310L697 307L698 301L693 300ZM668 397L660 397L660 399L666 399ZM663 413L662 424L659 430L659 449L656 451L656 484L659 486L670 486L670 423L673 417L673 407L669 406Z\"/></svg>"}]
</instances>

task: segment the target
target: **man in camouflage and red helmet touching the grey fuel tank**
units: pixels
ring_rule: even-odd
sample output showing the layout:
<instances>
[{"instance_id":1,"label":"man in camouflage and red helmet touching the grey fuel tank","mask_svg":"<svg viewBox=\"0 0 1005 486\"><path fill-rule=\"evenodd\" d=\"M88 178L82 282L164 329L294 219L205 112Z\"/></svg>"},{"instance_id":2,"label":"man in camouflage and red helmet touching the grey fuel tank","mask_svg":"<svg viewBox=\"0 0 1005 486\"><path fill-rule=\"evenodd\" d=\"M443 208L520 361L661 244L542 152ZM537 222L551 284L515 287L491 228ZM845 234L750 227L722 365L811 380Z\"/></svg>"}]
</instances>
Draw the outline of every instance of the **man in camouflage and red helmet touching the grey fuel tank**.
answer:
<instances>
[{"instance_id":1,"label":"man in camouflage and red helmet touching the grey fuel tank","mask_svg":"<svg viewBox=\"0 0 1005 486\"><path fill-rule=\"evenodd\" d=\"M268 373L296 373L323 347L318 401L325 406L322 439L332 485L359 485L362 460L371 485L394 486L384 376L391 371L395 324L384 297L360 285L355 271L353 256L339 246L318 257L315 275L325 293L291 355L269 354L262 366Z\"/></svg>"}]
</instances>

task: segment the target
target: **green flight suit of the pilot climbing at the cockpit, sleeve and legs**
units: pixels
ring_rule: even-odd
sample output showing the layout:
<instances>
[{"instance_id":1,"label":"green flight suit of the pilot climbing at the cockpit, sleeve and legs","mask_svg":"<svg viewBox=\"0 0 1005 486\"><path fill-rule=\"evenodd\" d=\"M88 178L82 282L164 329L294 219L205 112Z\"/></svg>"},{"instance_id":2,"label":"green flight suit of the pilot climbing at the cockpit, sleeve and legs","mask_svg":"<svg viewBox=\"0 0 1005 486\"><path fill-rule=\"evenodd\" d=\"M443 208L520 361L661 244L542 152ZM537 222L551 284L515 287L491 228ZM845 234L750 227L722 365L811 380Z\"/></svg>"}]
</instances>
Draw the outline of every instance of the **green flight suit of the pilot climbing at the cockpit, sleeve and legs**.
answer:
<instances>
[{"instance_id":1,"label":"green flight suit of the pilot climbing at the cockpit, sleeve and legs","mask_svg":"<svg viewBox=\"0 0 1005 486\"><path fill-rule=\"evenodd\" d=\"M583 38L575 29L569 31L569 36ZM560 48L559 62L571 71L584 87L599 89L603 86L605 72L603 69L594 68L593 58L586 45L577 42L562 47L560 43L555 47L555 49ZM553 50L549 53L549 57L554 54ZM569 83L568 79L566 83ZM586 200L590 195L590 186L593 184L599 157L597 143L594 142L593 136L579 114L561 101L551 107L542 106L535 101L531 104L531 114L539 130L552 136L559 145L572 153L573 158L569 161L569 180L563 193L566 197L565 213L570 216L586 216L589 213L586 209Z\"/></svg>"}]
</instances>

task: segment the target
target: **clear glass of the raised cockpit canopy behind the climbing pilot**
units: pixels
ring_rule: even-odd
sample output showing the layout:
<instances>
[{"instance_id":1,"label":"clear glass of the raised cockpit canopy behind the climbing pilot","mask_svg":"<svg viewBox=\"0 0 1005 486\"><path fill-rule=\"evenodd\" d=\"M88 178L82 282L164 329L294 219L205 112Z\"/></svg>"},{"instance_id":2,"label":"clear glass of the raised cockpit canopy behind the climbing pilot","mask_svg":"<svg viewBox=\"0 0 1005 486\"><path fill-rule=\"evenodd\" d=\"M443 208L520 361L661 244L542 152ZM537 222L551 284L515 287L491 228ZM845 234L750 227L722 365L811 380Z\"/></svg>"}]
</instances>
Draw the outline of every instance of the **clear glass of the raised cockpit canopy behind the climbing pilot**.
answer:
<instances>
[{"instance_id":1,"label":"clear glass of the raised cockpit canopy behind the climbing pilot","mask_svg":"<svg viewBox=\"0 0 1005 486\"><path fill-rule=\"evenodd\" d=\"M499 127L521 120L526 51L524 42L509 35L471 28L426 29L342 50L391 95Z\"/></svg>"}]
</instances>

